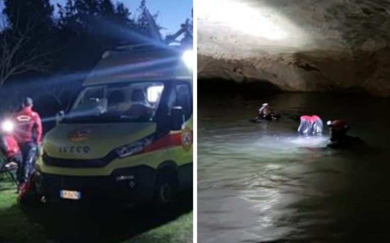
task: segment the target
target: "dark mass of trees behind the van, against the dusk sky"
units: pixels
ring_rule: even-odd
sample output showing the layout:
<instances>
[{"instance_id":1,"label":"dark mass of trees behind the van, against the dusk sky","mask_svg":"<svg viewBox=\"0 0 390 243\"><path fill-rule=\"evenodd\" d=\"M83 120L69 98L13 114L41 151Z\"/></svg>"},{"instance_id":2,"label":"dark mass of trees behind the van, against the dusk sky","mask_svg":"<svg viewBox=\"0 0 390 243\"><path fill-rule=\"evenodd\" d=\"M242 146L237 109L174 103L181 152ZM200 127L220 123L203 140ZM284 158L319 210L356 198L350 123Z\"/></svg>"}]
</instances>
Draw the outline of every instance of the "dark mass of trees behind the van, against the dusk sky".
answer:
<instances>
[{"instance_id":1,"label":"dark mass of trees behind the van, against the dusk sky","mask_svg":"<svg viewBox=\"0 0 390 243\"><path fill-rule=\"evenodd\" d=\"M116 0L66 0L56 15L50 0L0 1L8 20L0 29L0 87L29 82L26 87L60 97L67 88L77 90L104 51L161 41L157 15L145 1L137 16Z\"/></svg>"}]
</instances>

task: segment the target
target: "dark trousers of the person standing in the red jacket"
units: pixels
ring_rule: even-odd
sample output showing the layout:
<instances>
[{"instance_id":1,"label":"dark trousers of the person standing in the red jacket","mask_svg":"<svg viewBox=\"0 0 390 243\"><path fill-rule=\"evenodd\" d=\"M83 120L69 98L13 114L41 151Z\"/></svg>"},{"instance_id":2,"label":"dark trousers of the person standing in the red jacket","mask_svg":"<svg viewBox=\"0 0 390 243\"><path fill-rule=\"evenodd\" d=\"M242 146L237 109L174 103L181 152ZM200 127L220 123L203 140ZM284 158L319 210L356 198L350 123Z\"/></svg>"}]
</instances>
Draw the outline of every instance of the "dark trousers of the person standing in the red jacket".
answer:
<instances>
[{"instance_id":1,"label":"dark trousers of the person standing in the red jacket","mask_svg":"<svg viewBox=\"0 0 390 243\"><path fill-rule=\"evenodd\" d=\"M33 142L19 144L20 150L22 151L22 171L20 171L19 183L27 182L30 175L34 172L35 158L38 150L38 146Z\"/></svg>"}]
</instances>

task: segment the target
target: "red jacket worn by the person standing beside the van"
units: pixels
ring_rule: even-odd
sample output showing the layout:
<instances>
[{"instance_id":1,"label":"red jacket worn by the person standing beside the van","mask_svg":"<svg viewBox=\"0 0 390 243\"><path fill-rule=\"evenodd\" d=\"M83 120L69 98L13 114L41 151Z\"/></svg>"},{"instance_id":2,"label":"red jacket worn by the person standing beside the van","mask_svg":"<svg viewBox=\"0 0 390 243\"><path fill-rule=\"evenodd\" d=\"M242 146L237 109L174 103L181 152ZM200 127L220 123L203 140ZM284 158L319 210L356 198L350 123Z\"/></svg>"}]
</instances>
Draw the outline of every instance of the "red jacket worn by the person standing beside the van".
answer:
<instances>
[{"instance_id":1,"label":"red jacket worn by the person standing beside the van","mask_svg":"<svg viewBox=\"0 0 390 243\"><path fill-rule=\"evenodd\" d=\"M19 143L41 142L41 118L38 113L32 111L31 107L24 107L18 111L14 115L14 120L16 121L15 138Z\"/></svg>"}]
</instances>

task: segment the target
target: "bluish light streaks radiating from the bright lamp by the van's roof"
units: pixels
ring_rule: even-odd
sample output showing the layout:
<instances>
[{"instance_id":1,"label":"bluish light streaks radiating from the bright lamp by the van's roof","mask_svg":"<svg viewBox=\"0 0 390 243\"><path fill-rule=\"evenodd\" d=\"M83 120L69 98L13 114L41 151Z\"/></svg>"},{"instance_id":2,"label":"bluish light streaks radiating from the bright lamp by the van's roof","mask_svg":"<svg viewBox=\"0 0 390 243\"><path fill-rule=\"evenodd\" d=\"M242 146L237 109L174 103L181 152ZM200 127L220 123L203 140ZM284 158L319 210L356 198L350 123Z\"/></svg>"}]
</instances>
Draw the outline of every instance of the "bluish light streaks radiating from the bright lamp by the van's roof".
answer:
<instances>
[{"instance_id":1,"label":"bluish light streaks radiating from the bright lamp by the van's roof","mask_svg":"<svg viewBox=\"0 0 390 243\"><path fill-rule=\"evenodd\" d=\"M112 37L112 38L118 38L118 39L125 39L127 43L134 44L134 43L141 43L141 44L149 44L153 45L154 47L158 49L165 49L170 50L173 53L177 53L177 56L174 57L166 57L166 58L155 58L154 60L147 61L147 62L138 62L138 63L126 63L123 62L122 64L110 66L110 67L99 67L99 64L94 67L92 70L82 70L82 71L75 71L75 72L69 72L69 73L61 73L57 75L53 75L51 77L42 77L42 78L34 78L34 79L27 79L24 80L18 80L19 82L13 82L9 86L7 85L4 87L4 90L35 90L35 89L42 89L42 87L46 87L46 91L48 93L52 92L54 90L59 90L59 87L64 87L64 90L68 90L69 88L77 87L73 86L75 82L80 82L77 84L81 84L83 80L86 80L91 75L99 75L104 76L104 78L107 78L107 82L109 82L110 76L122 76L123 78L130 77L132 74L141 74L146 72L160 72L160 73L174 73L175 68L177 65L171 65L171 64L177 64L177 62L181 58L181 54L183 52L182 49L177 47L172 47L167 45L166 43L162 42L158 39L153 39L148 36L142 35L140 33L137 33L125 26L121 26L118 24L115 24L113 22L108 21L102 21L99 19L95 19L95 21L92 21L93 24L97 24L99 26L103 26L102 28L99 28L100 34L102 36ZM123 48L123 49L126 49ZM129 50L130 51L130 50ZM137 60L134 60L137 61ZM130 75L130 76L129 76ZM140 77L143 77L140 75ZM13 109L11 105L9 108ZM49 122L56 120L56 117L45 117L43 118L43 122Z\"/></svg>"}]
</instances>

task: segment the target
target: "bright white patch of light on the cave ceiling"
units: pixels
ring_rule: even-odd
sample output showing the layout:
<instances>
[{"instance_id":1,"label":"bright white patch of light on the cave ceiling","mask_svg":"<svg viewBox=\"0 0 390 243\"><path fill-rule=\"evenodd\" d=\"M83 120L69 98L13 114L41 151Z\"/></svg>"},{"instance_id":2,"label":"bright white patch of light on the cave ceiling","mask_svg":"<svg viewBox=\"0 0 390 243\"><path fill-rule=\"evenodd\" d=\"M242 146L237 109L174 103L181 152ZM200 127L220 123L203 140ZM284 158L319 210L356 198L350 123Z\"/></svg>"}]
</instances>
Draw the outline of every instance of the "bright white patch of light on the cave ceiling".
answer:
<instances>
[{"instance_id":1,"label":"bright white patch of light on the cave ceiling","mask_svg":"<svg viewBox=\"0 0 390 243\"><path fill-rule=\"evenodd\" d=\"M227 25L245 34L269 40L288 37L286 21L269 9L259 10L233 0L200 0L198 8L199 15L210 23Z\"/></svg>"}]
</instances>

